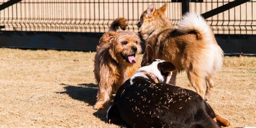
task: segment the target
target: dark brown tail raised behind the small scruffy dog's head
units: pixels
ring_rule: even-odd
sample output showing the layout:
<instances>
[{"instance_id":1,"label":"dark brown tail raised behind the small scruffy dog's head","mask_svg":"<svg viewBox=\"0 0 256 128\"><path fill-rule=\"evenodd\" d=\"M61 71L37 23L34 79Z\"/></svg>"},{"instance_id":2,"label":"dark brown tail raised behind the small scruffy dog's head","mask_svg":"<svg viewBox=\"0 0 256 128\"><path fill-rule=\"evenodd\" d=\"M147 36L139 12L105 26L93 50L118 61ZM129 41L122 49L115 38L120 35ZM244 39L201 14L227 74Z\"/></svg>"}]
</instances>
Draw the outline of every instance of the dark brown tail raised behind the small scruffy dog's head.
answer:
<instances>
[{"instance_id":1,"label":"dark brown tail raised behind the small scruffy dog's head","mask_svg":"<svg viewBox=\"0 0 256 128\"><path fill-rule=\"evenodd\" d=\"M125 30L127 27L126 19L124 17L118 17L111 23L109 28L110 31L116 32L117 29L120 27L122 30Z\"/></svg>"}]
</instances>

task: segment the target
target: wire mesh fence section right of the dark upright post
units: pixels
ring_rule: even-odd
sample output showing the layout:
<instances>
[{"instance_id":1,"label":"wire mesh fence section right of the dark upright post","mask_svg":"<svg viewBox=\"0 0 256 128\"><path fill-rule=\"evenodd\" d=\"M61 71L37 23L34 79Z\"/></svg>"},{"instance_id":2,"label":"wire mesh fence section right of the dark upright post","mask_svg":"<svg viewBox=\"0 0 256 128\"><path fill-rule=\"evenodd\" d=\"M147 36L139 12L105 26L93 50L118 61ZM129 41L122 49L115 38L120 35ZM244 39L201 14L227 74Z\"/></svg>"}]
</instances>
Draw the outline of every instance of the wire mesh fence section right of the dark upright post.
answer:
<instances>
[{"instance_id":1,"label":"wire mesh fence section right of the dark upright post","mask_svg":"<svg viewBox=\"0 0 256 128\"><path fill-rule=\"evenodd\" d=\"M190 3L190 12L203 14L231 1L233 0L204 0L203 3ZM256 34L255 7L256 0L250 0L206 20L215 34Z\"/></svg>"}]
</instances>

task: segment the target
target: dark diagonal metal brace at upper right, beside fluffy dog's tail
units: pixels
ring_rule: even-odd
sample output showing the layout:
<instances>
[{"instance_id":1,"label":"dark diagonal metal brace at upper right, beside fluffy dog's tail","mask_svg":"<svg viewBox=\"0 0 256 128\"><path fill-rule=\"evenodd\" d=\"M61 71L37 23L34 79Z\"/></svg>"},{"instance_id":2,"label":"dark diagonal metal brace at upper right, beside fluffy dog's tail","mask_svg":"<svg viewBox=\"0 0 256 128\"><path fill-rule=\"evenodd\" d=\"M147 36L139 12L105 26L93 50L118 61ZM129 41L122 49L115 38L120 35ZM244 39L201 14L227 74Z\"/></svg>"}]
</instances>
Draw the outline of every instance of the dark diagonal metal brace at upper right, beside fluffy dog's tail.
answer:
<instances>
[{"instance_id":1,"label":"dark diagonal metal brace at upper right, beside fluffy dog's tail","mask_svg":"<svg viewBox=\"0 0 256 128\"><path fill-rule=\"evenodd\" d=\"M205 12L204 14L202 14L202 16L205 19L207 19L207 18L212 17L214 15L217 15L217 14L219 14L221 12L224 12L224 11L226 11L228 9L231 9L233 7L236 7L236 6L239 6L239 5L243 4L243 3L246 3L247 1L250 1L250 0L234 0L234 1L229 2L229 3L227 3L227 4L223 5L223 6L218 7L216 9L212 9L211 11Z\"/></svg>"}]
</instances>

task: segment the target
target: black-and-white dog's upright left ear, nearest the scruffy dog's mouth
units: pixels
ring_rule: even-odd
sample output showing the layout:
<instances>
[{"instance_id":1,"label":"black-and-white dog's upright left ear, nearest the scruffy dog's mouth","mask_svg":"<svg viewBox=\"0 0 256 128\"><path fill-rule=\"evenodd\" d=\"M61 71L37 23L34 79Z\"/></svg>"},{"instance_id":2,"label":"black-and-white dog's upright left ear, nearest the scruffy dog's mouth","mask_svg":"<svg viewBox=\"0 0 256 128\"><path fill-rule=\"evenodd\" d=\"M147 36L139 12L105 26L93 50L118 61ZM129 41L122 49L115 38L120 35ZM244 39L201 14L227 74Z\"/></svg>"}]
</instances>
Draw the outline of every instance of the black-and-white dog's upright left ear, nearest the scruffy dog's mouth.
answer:
<instances>
[{"instance_id":1,"label":"black-and-white dog's upright left ear, nearest the scruffy dog's mouth","mask_svg":"<svg viewBox=\"0 0 256 128\"><path fill-rule=\"evenodd\" d=\"M150 62L153 60L154 52L150 45L146 45L145 53L143 55L143 59L141 62L141 67L147 66L150 64Z\"/></svg>"}]
</instances>

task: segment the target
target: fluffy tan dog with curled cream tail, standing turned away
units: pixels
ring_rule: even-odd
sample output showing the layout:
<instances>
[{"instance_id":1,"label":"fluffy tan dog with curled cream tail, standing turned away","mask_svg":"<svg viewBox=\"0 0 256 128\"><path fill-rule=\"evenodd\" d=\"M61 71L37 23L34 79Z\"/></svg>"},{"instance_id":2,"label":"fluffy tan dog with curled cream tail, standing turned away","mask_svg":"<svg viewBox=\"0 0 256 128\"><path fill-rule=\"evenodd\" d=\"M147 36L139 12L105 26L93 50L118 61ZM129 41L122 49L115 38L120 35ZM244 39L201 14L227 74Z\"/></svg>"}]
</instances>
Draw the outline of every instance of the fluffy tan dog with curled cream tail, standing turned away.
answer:
<instances>
[{"instance_id":1,"label":"fluffy tan dog with curled cream tail, standing turned away","mask_svg":"<svg viewBox=\"0 0 256 128\"><path fill-rule=\"evenodd\" d=\"M146 42L142 65L148 56L172 62L177 68L171 84L175 85L178 72L186 71L191 85L204 99L210 97L212 76L222 67L223 51L218 46L212 29L197 13L183 15L177 29L166 17L167 3L156 9L153 3L143 12L140 34ZM206 93L204 86L207 85Z\"/></svg>"}]
</instances>

